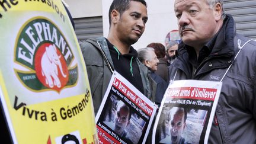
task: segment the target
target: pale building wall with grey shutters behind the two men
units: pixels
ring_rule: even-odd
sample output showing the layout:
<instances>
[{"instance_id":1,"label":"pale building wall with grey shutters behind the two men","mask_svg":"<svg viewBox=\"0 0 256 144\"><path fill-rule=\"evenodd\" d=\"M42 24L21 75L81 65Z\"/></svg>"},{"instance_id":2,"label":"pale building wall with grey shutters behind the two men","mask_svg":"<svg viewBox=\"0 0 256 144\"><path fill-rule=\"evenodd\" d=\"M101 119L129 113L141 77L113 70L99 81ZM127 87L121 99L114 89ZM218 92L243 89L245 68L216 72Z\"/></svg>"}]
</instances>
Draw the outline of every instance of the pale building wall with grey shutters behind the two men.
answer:
<instances>
[{"instance_id":1,"label":"pale building wall with grey shutters behind the two men","mask_svg":"<svg viewBox=\"0 0 256 144\"><path fill-rule=\"evenodd\" d=\"M108 8L112 1L107 0L65 0L75 21L75 32L79 41L108 34ZM133 45L135 49L149 43L165 43L169 31L177 30L174 14L174 1L146 0L148 22L142 37ZM236 21L237 32L250 39L256 39L256 0L224 0L227 14Z\"/></svg>"}]
</instances>

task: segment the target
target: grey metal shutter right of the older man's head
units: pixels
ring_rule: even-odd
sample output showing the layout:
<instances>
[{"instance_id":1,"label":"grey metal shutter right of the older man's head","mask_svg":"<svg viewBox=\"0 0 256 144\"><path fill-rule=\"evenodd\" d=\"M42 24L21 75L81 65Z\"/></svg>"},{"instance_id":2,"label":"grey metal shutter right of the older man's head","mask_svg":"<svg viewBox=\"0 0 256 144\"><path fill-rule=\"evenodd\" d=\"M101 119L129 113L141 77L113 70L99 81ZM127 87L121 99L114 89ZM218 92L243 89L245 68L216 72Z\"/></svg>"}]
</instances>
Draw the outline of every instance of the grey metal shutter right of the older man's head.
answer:
<instances>
[{"instance_id":1,"label":"grey metal shutter right of the older man's head","mask_svg":"<svg viewBox=\"0 0 256 144\"><path fill-rule=\"evenodd\" d=\"M256 39L256 1L224 0L226 14L233 15L237 33Z\"/></svg>"}]
</instances>

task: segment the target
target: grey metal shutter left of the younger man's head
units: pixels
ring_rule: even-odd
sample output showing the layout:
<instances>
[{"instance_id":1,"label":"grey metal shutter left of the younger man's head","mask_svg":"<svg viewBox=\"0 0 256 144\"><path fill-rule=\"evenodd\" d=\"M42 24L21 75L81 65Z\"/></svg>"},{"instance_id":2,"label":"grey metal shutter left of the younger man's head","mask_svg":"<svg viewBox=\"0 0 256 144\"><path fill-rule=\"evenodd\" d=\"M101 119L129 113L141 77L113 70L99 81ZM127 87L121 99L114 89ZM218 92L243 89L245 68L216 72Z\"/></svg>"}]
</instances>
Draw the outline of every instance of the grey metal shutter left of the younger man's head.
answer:
<instances>
[{"instance_id":1,"label":"grey metal shutter left of the younger man's head","mask_svg":"<svg viewBox=\"0 0 256 144\"><path fill-rule=\"evenodd\" d=\"M79 43L89 38L103 36L102 17L74 18L75 33Z\"/></svg>"}]
</instances>

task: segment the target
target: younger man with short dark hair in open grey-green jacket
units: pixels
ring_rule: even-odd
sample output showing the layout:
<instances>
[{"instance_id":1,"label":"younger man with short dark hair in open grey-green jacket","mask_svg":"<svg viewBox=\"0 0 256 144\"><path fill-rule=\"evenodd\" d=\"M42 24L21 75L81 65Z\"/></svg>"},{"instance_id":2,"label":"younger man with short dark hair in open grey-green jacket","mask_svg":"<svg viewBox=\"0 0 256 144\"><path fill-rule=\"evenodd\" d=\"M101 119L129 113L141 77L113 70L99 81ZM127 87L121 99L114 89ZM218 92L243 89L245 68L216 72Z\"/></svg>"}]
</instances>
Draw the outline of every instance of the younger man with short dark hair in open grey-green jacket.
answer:
<instances>
[{"instance_id":1,"label":"younger man with short dark hair in open grey-green jacket","mask_svg":"<svg viewBox=\"0 0 256 144\"><path fill-rule=\"evenodd\" d=\"M109 12L108 37L89 39L80 44L97 114L111 76L117 71L142 94L153 101L153 80L132 44L142 36L148 20L144 0L114 0Z\"/></svg>"}]
</instances>

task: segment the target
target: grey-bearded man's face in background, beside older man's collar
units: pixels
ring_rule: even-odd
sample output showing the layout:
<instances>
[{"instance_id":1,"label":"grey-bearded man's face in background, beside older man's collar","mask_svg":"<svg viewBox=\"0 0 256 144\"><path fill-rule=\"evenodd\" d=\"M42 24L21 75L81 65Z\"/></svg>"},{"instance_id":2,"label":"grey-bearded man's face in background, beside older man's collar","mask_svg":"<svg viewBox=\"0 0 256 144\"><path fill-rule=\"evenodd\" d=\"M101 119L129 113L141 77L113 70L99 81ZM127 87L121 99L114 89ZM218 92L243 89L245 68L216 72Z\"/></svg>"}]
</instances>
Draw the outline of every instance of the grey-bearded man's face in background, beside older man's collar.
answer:
<instances>
[{"instance_id":1,"label":"grey-bearded man's face in background, beside older man's collar","mask_svg":"<svg viewBox=\"0 0 256 144\"><path fill-rule=\"evenodd\" d=\"M178 43L175 40L171 40L169 41L169 43L166 46L167 50L166 50L166 55L165 55L165 59L167 59L168 62L168 66L171 65L174 60L177 57L177 50L178 50Z\"/></svg>"}]
</instances>

